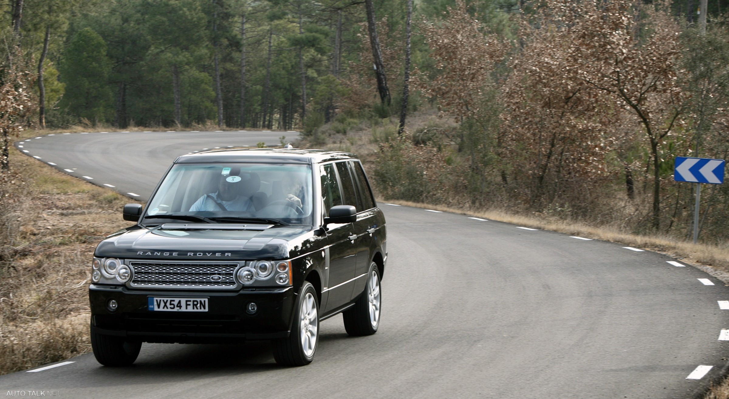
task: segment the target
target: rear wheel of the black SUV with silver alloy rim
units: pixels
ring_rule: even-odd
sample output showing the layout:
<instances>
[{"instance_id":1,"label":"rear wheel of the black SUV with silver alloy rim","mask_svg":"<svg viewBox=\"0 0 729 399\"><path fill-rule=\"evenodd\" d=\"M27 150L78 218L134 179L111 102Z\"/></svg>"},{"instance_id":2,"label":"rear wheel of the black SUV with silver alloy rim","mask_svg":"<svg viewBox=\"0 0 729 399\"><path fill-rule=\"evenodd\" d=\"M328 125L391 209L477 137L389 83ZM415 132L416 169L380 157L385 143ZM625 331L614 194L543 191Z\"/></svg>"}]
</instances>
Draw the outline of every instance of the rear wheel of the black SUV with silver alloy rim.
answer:
<instances>
[{"instance_id":1,"label":"rear wheel of the black SUV with silver alloy rim","mask_svg":"<svg viewBox=\"0 0 729 399\"><path fill-rule=\"evenodd\" d=\"M351 336L367 336L376 333L380 327L381 309L380 269L378 269L375 262L372 262L362 295L359 296L353 307L342 314L344 329Z\"/></svg>"}]
</instances>

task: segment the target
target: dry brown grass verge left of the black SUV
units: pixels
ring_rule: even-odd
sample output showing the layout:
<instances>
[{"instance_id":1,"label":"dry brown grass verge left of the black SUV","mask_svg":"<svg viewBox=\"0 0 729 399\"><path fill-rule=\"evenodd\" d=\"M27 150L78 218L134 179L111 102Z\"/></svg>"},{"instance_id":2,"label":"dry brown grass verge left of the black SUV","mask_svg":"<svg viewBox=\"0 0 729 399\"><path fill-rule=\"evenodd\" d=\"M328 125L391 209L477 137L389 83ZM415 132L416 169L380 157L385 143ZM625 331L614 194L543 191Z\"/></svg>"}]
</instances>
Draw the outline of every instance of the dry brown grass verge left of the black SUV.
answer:
<instances>
[{"instance_id":1,"label":"dry brown grass verge left of the black SUV","mask_svg":"<svg viewBox=\"0 0 729 399\"><path fill-rule=\"evenodd\" d=\"M133 202L15 149L11 165L22 200L0 242L10 256L0 262L0 374L90 351L90 260L98 241L129 225L120 210Z\"/></svg>"}]
</instances>

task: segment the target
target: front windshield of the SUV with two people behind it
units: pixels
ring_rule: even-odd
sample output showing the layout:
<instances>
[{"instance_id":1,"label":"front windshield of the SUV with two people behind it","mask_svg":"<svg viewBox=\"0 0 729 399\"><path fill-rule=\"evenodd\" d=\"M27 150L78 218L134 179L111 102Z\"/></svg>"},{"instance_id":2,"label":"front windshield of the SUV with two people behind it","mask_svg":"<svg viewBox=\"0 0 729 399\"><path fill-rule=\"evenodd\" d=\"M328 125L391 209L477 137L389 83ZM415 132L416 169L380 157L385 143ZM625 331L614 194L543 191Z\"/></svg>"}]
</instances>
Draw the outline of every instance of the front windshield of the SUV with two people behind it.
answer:
<instances>
[{"instance_id":1,"label":"front windshield of the SUV with two people behind it","mask_svg":"<svg viewBox=\"0 0 729 399\"><path fill-rule=\"evenodd\" d=\"M176 164L149 201L144 221L311 225L311 166Z\"/></svg>"}]
</instances>

